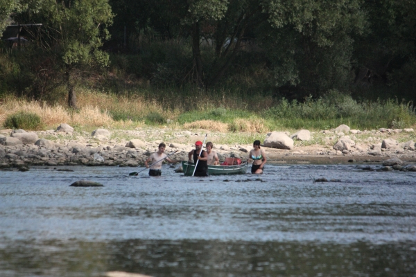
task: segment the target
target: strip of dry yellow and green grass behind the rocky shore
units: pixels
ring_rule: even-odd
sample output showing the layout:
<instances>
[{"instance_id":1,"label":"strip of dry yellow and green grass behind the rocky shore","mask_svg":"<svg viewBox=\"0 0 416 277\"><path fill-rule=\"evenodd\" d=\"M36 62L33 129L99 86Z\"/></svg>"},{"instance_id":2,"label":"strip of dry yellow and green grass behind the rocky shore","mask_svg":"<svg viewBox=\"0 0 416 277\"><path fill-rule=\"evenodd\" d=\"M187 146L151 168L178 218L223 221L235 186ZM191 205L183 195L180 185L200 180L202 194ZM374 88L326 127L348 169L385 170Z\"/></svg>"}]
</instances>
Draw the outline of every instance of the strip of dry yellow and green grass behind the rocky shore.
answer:
<instances>
[{"instance_id":1,"label":"strip of dry yellow and green grass behind the rocky shore","mask_svg":"<svg viewBox=\"0 0 416 277\"><path fill-rule=\"evenodd\" d=\"M64 96L39 102L5 96L0 102L0 125L17 113L40 116L35 129L54 129L68 123L80 129L106 127L132 129L145 125L169 125L214 132L266 133L272 130L331 129L347 124L353 129L406 128L416 123L415 107L398 100L358 102L330 91L304 102L250 96L248 91L155 89L141 87L125 93L78 89L79 109L68 109Z\"/></svg>"}]
</instances>

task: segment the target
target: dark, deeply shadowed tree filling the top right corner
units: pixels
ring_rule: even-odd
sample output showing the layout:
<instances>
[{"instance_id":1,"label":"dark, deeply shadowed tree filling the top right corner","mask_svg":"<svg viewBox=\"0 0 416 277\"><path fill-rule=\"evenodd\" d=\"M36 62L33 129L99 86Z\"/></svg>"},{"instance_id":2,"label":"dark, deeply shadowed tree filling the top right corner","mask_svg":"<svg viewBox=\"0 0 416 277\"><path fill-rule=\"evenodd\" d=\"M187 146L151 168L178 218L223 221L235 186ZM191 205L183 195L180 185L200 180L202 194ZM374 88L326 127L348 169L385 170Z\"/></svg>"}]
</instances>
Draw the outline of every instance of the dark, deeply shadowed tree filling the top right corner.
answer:
<instances>
[{"instance_id":1,"label":"dark, deeply shadowed tree filling the top right corner","mask_svg":"<svg viewBox=\"0 0 416 277\"><path fill-rule=\"evenodd\" d=\"M374 90L375 98L379 98L379 87L388 86L384 97L416 101L415 2L365 1L363 11L367 15L365 35L354 37L358 93Z\"/></svg>"}]
</instances>

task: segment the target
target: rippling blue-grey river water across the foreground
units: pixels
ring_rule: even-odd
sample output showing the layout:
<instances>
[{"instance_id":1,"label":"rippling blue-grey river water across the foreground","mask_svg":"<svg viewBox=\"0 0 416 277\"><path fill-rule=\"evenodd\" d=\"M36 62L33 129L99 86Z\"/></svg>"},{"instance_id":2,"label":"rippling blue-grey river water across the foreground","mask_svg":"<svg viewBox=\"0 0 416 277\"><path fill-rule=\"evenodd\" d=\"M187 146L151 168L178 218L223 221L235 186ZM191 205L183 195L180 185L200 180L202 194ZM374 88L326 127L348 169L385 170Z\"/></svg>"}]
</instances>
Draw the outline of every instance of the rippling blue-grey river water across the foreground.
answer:
<instances>
[{"instance_id":1,"label":"rippling blue-grey river water across the foreground","mask_svg":"<svg viewBox=\"0 0 416 277\"><path fill-rule=\"evenodd\" d=\"M416 172L62 168L0 171L1 277L416 276ZM69 186L80 179L104 186Z\"/></svg>"}]
</instances>

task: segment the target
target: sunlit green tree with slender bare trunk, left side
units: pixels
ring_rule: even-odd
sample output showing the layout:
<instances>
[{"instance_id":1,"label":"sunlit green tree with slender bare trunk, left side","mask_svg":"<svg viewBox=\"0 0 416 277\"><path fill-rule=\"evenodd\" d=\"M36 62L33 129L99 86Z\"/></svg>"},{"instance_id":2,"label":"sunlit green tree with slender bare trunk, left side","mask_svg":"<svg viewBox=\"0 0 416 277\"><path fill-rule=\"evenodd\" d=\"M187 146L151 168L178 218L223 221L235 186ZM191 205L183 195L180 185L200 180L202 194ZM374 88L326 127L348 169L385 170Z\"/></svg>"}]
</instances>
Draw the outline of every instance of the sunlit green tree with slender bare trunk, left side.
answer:
<instances>
[{"instance_id":1,"label":"sunlit green tree with slender bare trunk, left side","mask_svg":"<svg viewBox=\"0 0 416 277\"><path fill-rule=\"evenodd\" d=\"M42 22L40 50L45 58L51 57L55 70L62 73L68 89L68 105L76 108L74 86L85 69L107 66L109 57L99 48L110 34L112 10L108 0L39 0L29 1L40 6L38 12L31 9L15 15L17 20ZM31 5L29 5L31 6ZM58 57L58 58L56 58Z\"/></svg>"}]
</instances>

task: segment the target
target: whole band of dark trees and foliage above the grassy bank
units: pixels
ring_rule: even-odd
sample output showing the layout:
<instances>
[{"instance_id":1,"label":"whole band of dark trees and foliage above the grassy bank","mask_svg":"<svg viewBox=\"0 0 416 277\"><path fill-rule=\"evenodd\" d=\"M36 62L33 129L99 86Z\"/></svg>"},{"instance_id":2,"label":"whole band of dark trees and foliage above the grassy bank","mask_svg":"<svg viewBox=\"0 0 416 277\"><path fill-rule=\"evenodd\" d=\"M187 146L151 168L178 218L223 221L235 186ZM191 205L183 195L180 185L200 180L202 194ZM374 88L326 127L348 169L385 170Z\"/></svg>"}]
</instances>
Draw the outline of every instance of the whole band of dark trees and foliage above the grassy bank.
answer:
<instances>
[{"instance_id":1,"label":"whole band of dark trees and foliage above the grassy bank","mask_svg":"<svg viewBox=\"0 0 416 277\"><path fill-rule=\"evenodd\" d=\"M0 0L0 96L69 96L78 86L238 89L248 96L416 101L416 3L407 0ZM110 38L111 37L111 38ZM66 97L66 96L65 96ZM157 96L153 96L157 100Z\"/></svg>"}]
</instances>

